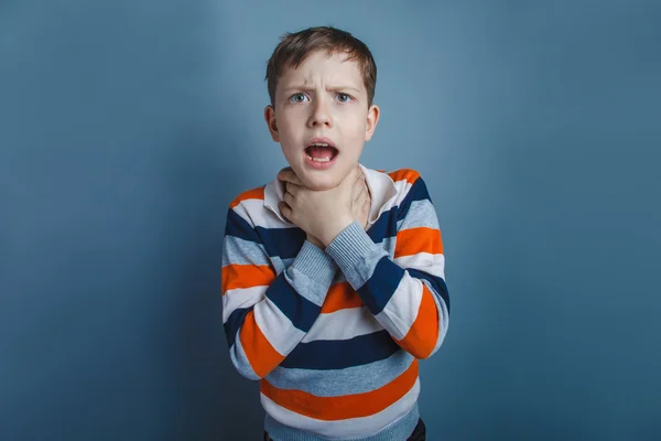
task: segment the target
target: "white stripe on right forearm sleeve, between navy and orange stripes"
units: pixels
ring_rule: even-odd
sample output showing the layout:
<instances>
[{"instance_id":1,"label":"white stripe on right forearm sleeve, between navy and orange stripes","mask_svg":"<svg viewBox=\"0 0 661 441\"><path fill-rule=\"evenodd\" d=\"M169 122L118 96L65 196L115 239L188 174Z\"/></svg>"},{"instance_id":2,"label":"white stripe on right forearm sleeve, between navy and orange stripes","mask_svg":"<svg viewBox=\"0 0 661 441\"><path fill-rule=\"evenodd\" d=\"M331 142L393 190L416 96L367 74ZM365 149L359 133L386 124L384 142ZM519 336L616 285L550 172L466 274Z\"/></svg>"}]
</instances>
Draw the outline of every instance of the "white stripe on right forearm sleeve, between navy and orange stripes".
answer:
<instances>
[{"instance_id":1,"label":"white stripe on right forearm sleeve, between navy and orange stripes","mask_svg":"<svg viewBox=\"0 0 661 441\"><path fill-rule=\"evenodd\" d=\"M421 301L422 281L404 272L386 308L377 314L377 320L394 338L402 340L418 318Z\"/></svg>"}]
</instances>

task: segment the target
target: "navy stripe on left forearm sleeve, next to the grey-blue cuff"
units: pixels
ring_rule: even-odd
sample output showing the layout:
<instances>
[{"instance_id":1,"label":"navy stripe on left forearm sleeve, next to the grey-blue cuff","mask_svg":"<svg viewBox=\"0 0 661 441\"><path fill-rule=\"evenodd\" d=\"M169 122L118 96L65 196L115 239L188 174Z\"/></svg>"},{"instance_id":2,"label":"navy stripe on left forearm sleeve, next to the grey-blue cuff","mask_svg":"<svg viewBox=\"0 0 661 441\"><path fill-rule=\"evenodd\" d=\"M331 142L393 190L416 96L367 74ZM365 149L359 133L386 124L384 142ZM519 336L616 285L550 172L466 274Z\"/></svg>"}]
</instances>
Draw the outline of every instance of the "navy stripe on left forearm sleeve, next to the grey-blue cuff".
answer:
<instances>
[{"instance_id":1,"label":"navy stripe on left forearm sleeve, next to the grey-blue cuff","mask_svg":"<svg viewBox=\"0 0 661 441\"><path fill-rule=\"evenodd\" d=\"M310 331L322 311L303 295L299 294L284 278L284 271L267 290L267 297L286 315L294 326L303 332Z\"/></svg>"}]
</instances>

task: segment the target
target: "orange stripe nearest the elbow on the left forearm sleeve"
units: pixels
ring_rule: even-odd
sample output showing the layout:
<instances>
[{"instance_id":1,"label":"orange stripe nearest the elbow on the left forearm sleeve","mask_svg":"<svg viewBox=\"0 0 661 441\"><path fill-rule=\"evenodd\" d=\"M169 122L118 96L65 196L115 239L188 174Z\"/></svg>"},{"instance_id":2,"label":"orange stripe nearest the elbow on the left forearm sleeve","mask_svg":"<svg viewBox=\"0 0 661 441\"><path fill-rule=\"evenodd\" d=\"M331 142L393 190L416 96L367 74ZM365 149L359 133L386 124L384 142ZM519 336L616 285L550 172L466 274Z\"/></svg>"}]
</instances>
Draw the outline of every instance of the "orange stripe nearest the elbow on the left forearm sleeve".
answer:
<instances>
[{"instance_id":1,"label":"orange stripe nearest the elbow on the left forearm sleeve","mask_svg":"<svg viewBox=\"0 0 661 441\"><path fill-rule=\"evenodd\" d=\"M260 377L266 377L284 359L284 356L275 351L257 325L254 311L246 314L239 338L252 370Z\"/></svg>"}]
</instances>

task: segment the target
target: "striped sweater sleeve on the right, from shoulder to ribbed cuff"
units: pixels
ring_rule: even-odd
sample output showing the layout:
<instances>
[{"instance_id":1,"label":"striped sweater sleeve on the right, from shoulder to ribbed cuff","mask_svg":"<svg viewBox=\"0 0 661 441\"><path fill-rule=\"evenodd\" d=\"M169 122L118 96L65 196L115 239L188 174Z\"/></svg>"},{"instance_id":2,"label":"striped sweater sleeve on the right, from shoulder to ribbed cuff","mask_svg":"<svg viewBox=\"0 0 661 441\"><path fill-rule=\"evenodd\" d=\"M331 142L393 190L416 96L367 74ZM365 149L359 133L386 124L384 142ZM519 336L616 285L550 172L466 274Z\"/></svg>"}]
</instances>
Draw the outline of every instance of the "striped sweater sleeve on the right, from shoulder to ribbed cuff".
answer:
<instances>
[{"instance_id":1,"label":"striped sweater sleeve on the right, from shoulder to ribbed cuff","mask_svg":"<svg viewBox=\"0 0 661 441\"><path fill-rule=\"evenodd\" d=\"M438 220L421 178L398 207L394 257L355 222L326 248L392 338L427 358L447 332L449 298Z\"/></svg>"}]
</instances>

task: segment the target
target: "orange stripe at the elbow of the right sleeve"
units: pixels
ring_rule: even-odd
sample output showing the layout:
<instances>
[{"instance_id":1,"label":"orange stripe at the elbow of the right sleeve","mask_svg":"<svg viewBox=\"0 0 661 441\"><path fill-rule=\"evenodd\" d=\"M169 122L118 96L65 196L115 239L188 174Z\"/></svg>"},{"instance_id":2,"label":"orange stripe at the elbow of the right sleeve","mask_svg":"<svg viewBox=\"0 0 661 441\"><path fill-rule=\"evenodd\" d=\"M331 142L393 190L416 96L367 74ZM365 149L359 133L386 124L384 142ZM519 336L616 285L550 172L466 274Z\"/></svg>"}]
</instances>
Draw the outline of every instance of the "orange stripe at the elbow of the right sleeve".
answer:
<instances>
[{"instance_id":1,"label":"orange stripe at the elbow of the right sleeve","mask_svg":"<svg viewBox=\"0 0 661 441\"><path fill-rule=\"evenodd\" d=\"M397 341L404 351L416 358L426 358L432 355L438 340L438 313L432 295L423 283L418 316L407 335Z\"/></svg>"}]
</instances>

